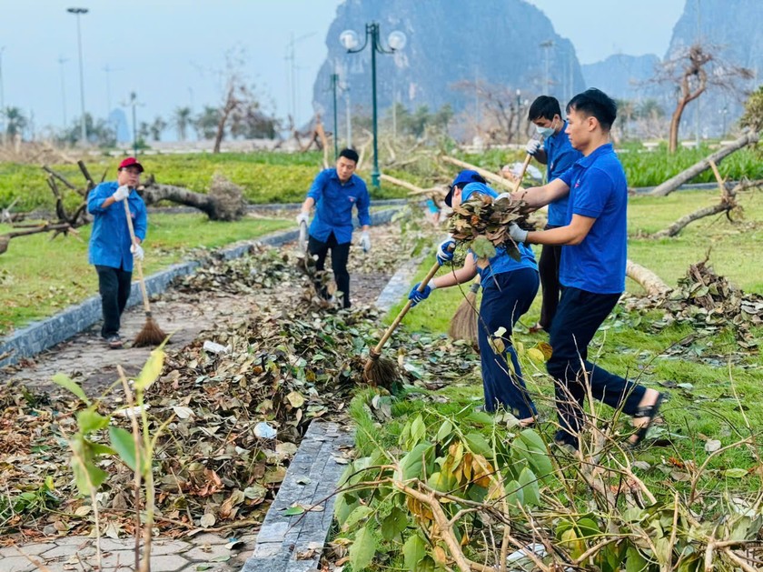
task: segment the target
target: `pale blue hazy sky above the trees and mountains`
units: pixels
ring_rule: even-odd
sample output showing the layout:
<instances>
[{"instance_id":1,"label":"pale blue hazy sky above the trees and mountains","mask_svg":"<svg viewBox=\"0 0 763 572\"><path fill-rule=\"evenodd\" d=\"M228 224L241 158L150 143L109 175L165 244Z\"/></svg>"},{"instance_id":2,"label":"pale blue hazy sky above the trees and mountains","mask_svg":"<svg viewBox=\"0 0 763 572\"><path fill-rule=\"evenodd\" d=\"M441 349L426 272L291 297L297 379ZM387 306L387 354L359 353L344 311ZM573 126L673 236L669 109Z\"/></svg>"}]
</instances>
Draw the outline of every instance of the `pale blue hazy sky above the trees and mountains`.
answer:
<instances>
[{"instance_id":1,"label":"pale blue hazy sky above the trees and mountains","mask_svg":"<svg viewBox=\"0 0 763 572\"><path fill-rule=\"evenodd\" d=\"M139 122L167 119L179 106L195 113L219 105L226 57L243 54L265 108L280 117L294 108L299 125L312 115L312 82L342 1L0 0L0 103L20 107L38 133L81 115L79 20L84 109L96 117L131 92ZM694 0L528 1L590 64L619 53L664 55L685 2ZM89 11L76 16L69 7Z\"/></svg>"}]
</instances>

